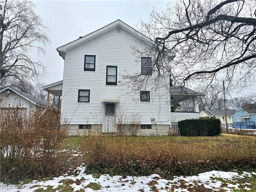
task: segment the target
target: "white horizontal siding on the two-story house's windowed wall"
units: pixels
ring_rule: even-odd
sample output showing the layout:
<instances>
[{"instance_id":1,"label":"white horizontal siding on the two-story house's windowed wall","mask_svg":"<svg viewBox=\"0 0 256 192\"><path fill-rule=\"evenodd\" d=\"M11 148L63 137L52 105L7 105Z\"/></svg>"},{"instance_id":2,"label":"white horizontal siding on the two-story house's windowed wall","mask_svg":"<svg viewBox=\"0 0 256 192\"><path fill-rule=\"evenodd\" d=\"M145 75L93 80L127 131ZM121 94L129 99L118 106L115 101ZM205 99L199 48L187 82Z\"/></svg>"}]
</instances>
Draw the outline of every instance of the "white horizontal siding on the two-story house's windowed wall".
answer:
<instances>
[{"instance_id":1,"label":"white horizontal siding on the two-story house's windowed wall","mask_svg":"<svg viewBox=\"0 0 256 192\"><path fill-rule=\"evenodd\" d=\"M125 30L111 30L97 38L68 50L65 56L62 114L70 124L102 124L104 99L116 103L117 119L121 123L140 122L168 125L168 91L152 84L150 102L140 102L140 90L131 91L124 75L141 73L141 58L132 54L132 47L143 46L136 37ZM84 56L96 55L95 71L84 71ZM117 85L106 85L106 66L117 66ZM150 90L152 88L152 90ZM78 102L78 89L90 90L90 103ZM118 123L118 122L117 122Z\"/></svg>"}]
</instances>

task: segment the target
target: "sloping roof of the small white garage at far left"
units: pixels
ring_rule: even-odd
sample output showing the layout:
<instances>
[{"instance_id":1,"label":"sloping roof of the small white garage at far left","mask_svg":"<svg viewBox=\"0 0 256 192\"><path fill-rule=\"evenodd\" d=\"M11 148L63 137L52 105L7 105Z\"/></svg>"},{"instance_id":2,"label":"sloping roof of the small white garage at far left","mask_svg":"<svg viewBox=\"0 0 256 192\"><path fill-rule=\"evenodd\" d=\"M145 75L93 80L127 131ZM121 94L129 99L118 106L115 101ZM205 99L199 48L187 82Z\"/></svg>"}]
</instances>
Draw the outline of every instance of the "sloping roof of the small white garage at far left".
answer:
<instances>
[{"instance_id":1,"label":"sloping roof of the small white garage at far left","mask_svg":"<svg viewBox=\"0 0 256 192\"><path fill-rule=\"evenodd\" d=\"M29 93L23 92L21 90L15 89L15 88L10 87L10 86L6 86L6 87L2 88L0 92L3 92L7 89L13 91L14 93L18 94L19 96L23 97L24 99L28 100L29 102L31 102L31 103L33 103L37 106L46 106L46 101L45 100L43 100L41 98L38 98L34 95L31 95Z\"/></svg>"}]
</instances>

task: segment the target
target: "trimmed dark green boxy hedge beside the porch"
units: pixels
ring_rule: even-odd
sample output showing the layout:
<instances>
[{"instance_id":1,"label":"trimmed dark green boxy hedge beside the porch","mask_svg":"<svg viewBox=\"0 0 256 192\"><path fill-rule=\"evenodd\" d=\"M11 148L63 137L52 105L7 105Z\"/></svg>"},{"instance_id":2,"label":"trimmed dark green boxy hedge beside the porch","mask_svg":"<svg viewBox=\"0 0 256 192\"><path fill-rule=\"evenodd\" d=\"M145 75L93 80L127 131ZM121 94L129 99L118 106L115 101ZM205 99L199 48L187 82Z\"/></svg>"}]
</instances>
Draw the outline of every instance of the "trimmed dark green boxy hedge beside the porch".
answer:
<instances>
[{"instance_id":1,"label":"trimmed dark green boxy hedge beside the porch","mask_svg":"<svg viewBox=\"0 0 256 192\"><path fill-rule=\"evenodd\" d=\"M220 120L187 119L178 122L181 136L218 136L221 133Z\"/></svg>"}]
</instances>

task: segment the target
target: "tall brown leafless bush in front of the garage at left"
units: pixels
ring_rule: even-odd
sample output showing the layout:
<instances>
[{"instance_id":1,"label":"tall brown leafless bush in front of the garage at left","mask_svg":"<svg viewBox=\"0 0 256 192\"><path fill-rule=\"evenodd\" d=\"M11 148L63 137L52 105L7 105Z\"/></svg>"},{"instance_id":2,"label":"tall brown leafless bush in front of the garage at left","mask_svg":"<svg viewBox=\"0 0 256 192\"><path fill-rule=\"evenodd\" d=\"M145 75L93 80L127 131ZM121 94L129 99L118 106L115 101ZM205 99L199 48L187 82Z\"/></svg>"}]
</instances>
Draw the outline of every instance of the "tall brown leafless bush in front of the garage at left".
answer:
<instances>
[{"instance_id":1,"label":"tall brown leafless bush in front of the garage at left","mask_svg":"<svg viewBox=\"0 0 256 192\"><path fill-rule=\"evenodd\" d=\"M1 180L56 176L62 168L67 126L53 110L1 110Z\"/></svg>"}]
</instances>

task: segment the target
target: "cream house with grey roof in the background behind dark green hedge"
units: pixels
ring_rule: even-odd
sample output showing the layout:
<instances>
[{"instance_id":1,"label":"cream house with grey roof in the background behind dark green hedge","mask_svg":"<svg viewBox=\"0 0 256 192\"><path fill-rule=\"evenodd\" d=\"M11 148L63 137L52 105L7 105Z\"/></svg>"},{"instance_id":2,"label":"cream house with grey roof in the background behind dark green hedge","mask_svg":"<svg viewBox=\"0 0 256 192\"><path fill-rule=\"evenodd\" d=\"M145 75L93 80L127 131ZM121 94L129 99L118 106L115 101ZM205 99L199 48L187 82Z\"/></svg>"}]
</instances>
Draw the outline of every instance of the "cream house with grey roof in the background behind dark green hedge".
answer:
<instances>
[{"instance_id":1,"label":"cream house with grey roof in the background behind dark green hedge","mask_svg":"<svg viewBox=\"0 0 256 192\"><path fill-rule=\"evenodd\" d=\"M227 114L227 122L230 126L232 126L232 115L236 110L226 110ZM225 119L225 110L215 110L215 109L208 109L206 111L201 111L199 114L200 118L216 118L219 119L221 124L225 126L226 119Z\"/></svg>"}]
</instances>

